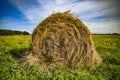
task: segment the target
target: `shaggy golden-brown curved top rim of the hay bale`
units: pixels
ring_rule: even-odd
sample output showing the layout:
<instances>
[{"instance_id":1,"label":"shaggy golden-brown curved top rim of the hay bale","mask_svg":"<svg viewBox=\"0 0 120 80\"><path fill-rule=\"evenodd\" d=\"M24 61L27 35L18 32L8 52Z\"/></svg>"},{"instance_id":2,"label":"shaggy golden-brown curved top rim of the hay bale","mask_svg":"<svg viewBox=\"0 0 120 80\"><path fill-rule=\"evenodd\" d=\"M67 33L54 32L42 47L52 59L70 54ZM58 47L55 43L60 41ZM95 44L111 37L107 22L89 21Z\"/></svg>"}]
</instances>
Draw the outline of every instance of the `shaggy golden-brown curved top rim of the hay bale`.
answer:
<instances>
[{"instance_id":1,"label":"shaggy golden-brown curved top rim of the hay bale","mask_svg":"<svg viewBox=\"0 0 120 80\"><path fill-rule=\"evenodd\" d=\"M47 17L45 20L43 20L34 30L33 34L36 34L36 32L44 32L44 30L47 27L50 27L51 25L74 25L81 30L81 28L84 28L86 31L86 34L90 34L89 30L87 27L80 21L79 18L75 17L73 14L69 12L58 12L58 13L53 13L49 17ZM56 26L56 27L57 27ZM51 26L52 27L52 26ZM64 27L66 28L66 27Z\"/></svg>"}]
</instances>

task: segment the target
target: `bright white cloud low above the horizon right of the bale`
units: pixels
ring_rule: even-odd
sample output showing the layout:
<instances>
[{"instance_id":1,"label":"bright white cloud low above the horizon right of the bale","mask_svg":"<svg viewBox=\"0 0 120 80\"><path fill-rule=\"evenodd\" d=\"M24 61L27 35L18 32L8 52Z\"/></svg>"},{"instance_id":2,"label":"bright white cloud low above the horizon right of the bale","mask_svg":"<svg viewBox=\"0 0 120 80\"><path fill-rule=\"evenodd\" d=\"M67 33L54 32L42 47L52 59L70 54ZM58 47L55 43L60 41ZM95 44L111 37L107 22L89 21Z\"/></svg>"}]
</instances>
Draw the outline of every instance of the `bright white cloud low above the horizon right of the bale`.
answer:
<instances>
[{"instance_id":1,"label":"bright white cloud low above the horizon right of the bale","mask_svg":"<svg viewBox=\"0 0 120 80\"><path fill-rule=\"evenodd\" d=\"M92 33L120 33L120 20L84 22Z\"/></svg>"}]
</instances>

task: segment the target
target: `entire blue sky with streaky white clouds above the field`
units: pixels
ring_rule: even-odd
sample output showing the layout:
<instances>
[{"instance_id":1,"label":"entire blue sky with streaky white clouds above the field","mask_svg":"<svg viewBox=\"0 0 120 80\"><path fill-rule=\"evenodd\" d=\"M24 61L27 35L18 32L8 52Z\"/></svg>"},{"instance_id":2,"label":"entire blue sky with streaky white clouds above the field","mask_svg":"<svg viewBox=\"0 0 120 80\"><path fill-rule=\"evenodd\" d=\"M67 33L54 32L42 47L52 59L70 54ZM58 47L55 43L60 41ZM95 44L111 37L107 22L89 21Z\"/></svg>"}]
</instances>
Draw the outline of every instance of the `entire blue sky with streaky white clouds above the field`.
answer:
<instances>
[{"instance_id":1,"label":"entire blue sky with streaky white clouds above the field","mask_svg":"<svg viewBox=\"0 0 120 80\"><path fill-rule=\"evenodd\" d=\"M67 10L91 33L120 33L120 0L0 0L0 29L32 33L52 13Z\"/></svg>"}]
</instances>

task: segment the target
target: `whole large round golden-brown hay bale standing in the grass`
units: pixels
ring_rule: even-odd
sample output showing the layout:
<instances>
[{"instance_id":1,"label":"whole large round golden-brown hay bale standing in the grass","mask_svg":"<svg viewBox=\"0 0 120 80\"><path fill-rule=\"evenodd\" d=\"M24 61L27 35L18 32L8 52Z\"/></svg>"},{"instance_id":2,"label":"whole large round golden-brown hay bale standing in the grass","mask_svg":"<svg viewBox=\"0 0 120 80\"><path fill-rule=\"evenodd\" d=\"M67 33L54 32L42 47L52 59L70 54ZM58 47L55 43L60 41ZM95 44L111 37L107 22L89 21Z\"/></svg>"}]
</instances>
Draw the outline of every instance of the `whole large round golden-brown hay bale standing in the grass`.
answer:
<instances>
[{"instance_id":1,"label":"whole large round golden-brown hay bale standing in the grass","mask_svg":"<svg viewBox=\"0 0 120 80\"><path fill-rule=\"evenodd\" d=\"M32 35L26 63L46 67L99 63L91 34L87 27L69 12L53 13L43 20Z\"/></svg>"}]
</instances>

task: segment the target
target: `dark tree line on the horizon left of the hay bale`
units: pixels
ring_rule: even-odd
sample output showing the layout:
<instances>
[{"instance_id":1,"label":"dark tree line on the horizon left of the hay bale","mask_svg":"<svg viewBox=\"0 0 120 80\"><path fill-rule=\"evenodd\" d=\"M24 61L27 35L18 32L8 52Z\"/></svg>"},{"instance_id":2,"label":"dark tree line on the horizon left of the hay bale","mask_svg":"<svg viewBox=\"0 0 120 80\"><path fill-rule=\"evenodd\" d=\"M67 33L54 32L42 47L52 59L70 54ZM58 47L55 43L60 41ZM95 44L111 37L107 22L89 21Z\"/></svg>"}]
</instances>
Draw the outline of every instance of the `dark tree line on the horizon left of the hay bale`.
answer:
<instances>
[{"instance_id":1,"label":"dark tree line on the horizon left of the hay bale","mask_svg":"<svg viewBox=\"0 0 120 80\"><path fill-rule=\"evenodd\" d=\"M4 30L0 29L0 35L29 35L30 33L27 31L13 31L13 30Z\"/></svg>"}]
</instances>

